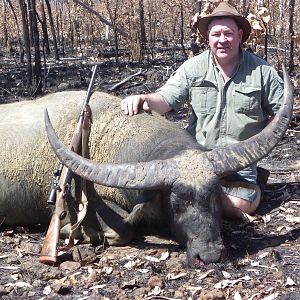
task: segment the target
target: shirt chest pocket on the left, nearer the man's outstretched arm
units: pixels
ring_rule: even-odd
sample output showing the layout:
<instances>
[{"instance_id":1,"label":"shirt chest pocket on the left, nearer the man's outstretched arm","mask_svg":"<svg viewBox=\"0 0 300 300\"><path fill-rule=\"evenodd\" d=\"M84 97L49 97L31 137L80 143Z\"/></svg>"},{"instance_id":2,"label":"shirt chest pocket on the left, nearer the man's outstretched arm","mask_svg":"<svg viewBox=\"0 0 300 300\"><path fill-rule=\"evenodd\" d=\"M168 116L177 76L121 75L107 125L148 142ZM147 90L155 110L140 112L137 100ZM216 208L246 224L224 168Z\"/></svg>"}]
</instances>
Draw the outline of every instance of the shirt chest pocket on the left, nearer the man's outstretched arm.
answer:
<instances>
[{"instance_id":1,"label":"shirt chest pocket on the left, nearer the man's outstretched arm","mask_svg":"<svg viewBox=\"0 0 300 300\"><path fill-rule=\"evenodd\" d=\"M190 103L196 115L215 114L217 95L217 91L213 87L191 87Z\"/></svg>"}]
</instances>

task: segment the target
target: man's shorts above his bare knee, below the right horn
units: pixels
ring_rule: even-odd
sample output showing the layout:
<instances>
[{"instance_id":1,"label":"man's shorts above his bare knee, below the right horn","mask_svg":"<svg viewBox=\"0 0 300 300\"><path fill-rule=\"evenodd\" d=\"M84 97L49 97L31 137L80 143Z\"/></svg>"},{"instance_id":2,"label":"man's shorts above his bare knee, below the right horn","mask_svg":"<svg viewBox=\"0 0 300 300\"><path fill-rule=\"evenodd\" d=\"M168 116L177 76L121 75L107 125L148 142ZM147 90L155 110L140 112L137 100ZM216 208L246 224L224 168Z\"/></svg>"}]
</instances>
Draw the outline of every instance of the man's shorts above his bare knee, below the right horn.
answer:
<instances>
[{"instance_id":1,"label":"man's shorts above his bare knee, below the right horn","mask_svg":"<svg viewBox=\"0 0 300 300\"><path fill-rule=\"evenodd\" d=\"M253 202L259 191L256 165L222 178L221 185L225 194Z\"/></svg>"}]
</instances>

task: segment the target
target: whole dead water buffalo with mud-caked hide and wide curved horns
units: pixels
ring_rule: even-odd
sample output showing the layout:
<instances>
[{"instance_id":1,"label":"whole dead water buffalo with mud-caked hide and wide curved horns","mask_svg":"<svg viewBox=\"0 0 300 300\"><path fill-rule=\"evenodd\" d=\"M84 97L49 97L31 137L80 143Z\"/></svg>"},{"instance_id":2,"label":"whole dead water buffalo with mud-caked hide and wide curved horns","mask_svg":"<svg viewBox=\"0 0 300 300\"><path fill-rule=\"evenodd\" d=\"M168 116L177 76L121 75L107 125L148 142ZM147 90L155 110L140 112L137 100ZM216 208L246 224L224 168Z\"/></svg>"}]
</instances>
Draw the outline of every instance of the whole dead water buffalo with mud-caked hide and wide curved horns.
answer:
<instances>
[{"instance_id":1,"label":"whole dead water buffalo with mud-caked hide and wide curved horns","mask_svg":"<svg viewBox=\"0 0 300 300\"><path fill-rule=\"evenodd\" d=\"M84 92L62 92L0 106L0 222L49 221L46 198L57 159L42 115L47 108L58 136L67 144L83 98ZM157 114L125 116L117 97L95 92L90 105L92 160L67 151L55 138L47 115L45 119L59 159L74 173L98 183L89 184L89 209L81 238L105 237L109 244L124 244L132 239L138 224L167 224L175 239L186 245L193 266L220 259L219 180L258 161L282 138L292 113L292 89L285 77L284 104L259 135L210 152ZM73 200L67 201L70 216L66 222L74 222L77 204Z\"/></svg>"}]
</instances>

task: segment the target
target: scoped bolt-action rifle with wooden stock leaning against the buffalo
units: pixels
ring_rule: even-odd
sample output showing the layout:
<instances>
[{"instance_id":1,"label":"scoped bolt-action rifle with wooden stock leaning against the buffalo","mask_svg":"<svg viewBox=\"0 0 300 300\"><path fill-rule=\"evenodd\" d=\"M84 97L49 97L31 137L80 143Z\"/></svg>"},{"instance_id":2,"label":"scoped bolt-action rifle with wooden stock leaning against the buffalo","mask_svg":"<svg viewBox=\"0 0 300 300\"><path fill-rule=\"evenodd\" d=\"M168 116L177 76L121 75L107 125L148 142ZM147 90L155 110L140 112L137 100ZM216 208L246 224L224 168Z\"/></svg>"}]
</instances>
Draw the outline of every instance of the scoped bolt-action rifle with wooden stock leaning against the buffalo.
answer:
<instances>
[{"instance_id":1,"label":"scoped bolt-action rifle with wooden stock leaning against the buffalo","mask_svg":"<svg viewBox=\"0 0 300 300\"><path fill-rule=\"evenodd\" d=\"M97 66L92 68L92 77L89 83L89 87L83 101L82 109L73 133L73 137L70 143L72 151L78 153L81 149L82 143L82 129L85 118L89 117L89 109L87 109L91 94L93 83L95 79ZM71 181L73 173L61 163L58 165L57 170L54 172L53 183L47 203L55 203L55 209L52 214L50 225L48 227L44 244L41 250L39 261L44 264L53 264L57 260L57 246L59 242L59 233L61 227L61 221L66 217L65 199L71 190Z\"/></svg>"}]
</instances>

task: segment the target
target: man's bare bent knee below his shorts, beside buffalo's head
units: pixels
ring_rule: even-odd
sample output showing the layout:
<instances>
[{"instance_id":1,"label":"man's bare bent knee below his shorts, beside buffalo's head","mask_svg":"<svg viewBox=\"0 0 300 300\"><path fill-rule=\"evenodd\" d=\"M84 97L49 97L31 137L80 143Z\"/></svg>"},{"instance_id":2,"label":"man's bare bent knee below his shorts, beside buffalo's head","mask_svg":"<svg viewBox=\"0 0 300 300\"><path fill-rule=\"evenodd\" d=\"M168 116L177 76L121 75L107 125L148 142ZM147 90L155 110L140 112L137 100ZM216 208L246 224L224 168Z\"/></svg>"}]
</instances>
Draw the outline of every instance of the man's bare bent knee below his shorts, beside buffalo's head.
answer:
<instances>
[{"instance_id":1,"label":"man's bare bent knee below his shorts, beside buffalo's head","mask_svg":"<svg viewBox=\"0 0 300 300\"><path fill-rule=\"evenodd\" d=\"M224 193L221 199L224 216L229 218L241 218L243 216L243 212L252 214L257 209L261 201L261 190L259 186L254 186L254 188L256 189L256 198L252 201Z\"/></svg>"}]
</instances>

